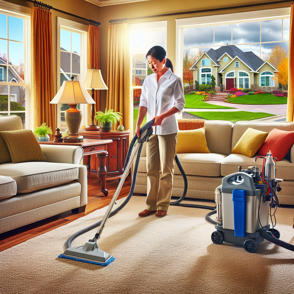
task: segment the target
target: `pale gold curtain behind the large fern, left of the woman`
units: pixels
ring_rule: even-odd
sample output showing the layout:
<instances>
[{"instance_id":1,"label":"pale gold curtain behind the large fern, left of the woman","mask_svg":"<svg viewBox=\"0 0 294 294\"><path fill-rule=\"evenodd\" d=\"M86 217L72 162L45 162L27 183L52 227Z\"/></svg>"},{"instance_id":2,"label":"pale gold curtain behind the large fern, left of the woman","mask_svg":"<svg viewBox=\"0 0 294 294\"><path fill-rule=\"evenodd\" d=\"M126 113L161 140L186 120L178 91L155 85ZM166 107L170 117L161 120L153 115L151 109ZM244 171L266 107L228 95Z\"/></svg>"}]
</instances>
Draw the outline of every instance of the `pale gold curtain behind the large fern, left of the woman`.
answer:
<instances>
[{"instance_id":1,"label":"pale gold curtain behind the large fern, left of the woman","mask_svg":"<svg viewBox=\"0 0 294 294\"><path fill-rule=\"evenodd\" d=\"M130 129L130 56L128 24L111 24L108 26L107 56L107 109L114 109L123 114L120 124L125 130ZM115 123L113 130L116 130Z\"/></svg>"}]
</instances>

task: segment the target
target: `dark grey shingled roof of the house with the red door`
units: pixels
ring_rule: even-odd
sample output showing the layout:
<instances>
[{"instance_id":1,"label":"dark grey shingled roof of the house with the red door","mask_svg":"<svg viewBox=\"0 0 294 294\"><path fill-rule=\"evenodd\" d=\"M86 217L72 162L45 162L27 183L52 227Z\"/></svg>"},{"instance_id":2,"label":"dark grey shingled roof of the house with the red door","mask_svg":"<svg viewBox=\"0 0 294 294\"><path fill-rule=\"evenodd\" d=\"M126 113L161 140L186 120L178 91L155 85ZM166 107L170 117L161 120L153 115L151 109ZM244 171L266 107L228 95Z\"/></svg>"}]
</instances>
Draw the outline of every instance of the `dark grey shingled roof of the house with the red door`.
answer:
<instances>
[{"instance_id":1,"label":"dark grey shingled roof of the house with the red door","mask_svg":"<svg viewBox=\"0 0 294 294\"><path fill-rule=\"evenodd\" d=\"M252 51L243 52L235 45L221 46L216 50L211 48L206 53L217 65L220 65L217 62L217 60L220 59L220 57L224 53L230 55L232 59L234 59L237 56L238 59L243 61L247 66L249 66L254 71L256 71L264 63L264 61L260 59L257 55L255 55Z\"/></svg>"}]
</instances>

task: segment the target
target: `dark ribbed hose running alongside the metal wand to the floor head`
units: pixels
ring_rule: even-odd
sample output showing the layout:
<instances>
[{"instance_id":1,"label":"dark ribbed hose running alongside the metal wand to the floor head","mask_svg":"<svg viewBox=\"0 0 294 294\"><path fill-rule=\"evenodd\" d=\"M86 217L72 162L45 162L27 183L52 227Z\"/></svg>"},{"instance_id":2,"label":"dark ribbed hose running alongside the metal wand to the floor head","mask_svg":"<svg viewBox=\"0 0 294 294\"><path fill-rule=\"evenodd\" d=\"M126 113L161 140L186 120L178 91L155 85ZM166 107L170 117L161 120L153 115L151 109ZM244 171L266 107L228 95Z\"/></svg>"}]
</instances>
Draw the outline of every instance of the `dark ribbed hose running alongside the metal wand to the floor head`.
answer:
<instances>
[{"instance_id":1,"label":"dark ribbed hose running alongside the metal wand to the floor head","mask_svg":"<svg viewBox=\"0 0 294 294\"><path fill-rule=\"evenodd\" d=\"M120 206L118 206L118 208L116 208L114 211L112 211L110 213L109 218L111 216L114 216L118 211L120 211L122 208L124 208L127 205L127 203L130 201L131 197L133 196L133 192L134 192L134 188L135 188L135 184L136 184L136 177L137 177L137 172L138 172L138 166L139 166L139 161L140 161L142 147L143 147L143 142L140 144L140 146L138 148L138 153L137 153L137 158L136 158L136 163L135 163L135 168L134 168L133 180L132 180L132 185L131 185L130 193L128 194L126 200L123 201L123 203ZM129 149L132 149L132 148L129 148ZM130 159L130 156L128 158L128 161L129 161L129 159ZM127 160L126 160L126 162L127 162ZM73 235L71 235L66 240L66 243L65 243L66 249L68 249L68 248L71 247L71 243L72 243L72 241L75 238L77 238L78 236L80 236L80 235L82 235L82 234L84 234L84 233L92 230L93 228L98 227L101 224L101 221L102 220L99 220L98 222L93 223L92 225L89 225L88 227L83 228L83 229L79 230L78 232L74 233Z\"/></svg>"}]
</instances>

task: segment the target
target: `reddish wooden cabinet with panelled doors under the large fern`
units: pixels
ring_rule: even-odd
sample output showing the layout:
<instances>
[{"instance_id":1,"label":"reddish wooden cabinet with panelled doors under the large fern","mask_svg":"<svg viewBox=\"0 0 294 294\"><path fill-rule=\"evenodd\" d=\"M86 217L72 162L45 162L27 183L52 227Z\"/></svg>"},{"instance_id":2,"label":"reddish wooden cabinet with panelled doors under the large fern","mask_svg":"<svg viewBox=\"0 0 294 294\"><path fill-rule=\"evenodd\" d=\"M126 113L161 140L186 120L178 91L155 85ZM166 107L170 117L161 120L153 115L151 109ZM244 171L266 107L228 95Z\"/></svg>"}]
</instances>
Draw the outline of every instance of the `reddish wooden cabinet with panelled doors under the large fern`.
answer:
<instances>
[{"instance_id":1,"label":"reddish wooden cabinet with panelled doors under the large fern","mask_svg":"<svg viewBox=\"0 0 294 294\"><path fill-rule=\"evenodd\" d=\"M108 157L106 158L107 175L106 181L120 179L123 174L123 165L128 153L130 131L79 131L78 134L87 139L112 140L108 146ZM98 162L95 156L91 156L91 173L97 171Z\"/></svg>"}]
</instances>

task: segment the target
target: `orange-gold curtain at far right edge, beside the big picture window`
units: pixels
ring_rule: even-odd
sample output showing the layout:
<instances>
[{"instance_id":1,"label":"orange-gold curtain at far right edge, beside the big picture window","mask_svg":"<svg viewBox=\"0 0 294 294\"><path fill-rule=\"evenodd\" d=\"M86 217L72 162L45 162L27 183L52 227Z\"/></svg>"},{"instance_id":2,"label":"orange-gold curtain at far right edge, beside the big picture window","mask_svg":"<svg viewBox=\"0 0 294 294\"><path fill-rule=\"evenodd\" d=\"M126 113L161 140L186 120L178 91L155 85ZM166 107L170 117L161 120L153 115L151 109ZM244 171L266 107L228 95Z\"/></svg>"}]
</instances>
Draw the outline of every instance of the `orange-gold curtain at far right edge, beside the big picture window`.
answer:
<instances>
[{"instance_id":1,"label":"orange-gold curtain at far right edge, beside the big picture window","mask_svg":"<svg viewBox=\"0 0 294 294\"><path fill-rule=\"evenodd\" d=\"M291 5L290 35L289 35L289 76L288 76L288 103L286 121L294 121L294 2Z\"/></svg>"}]
</instances>

